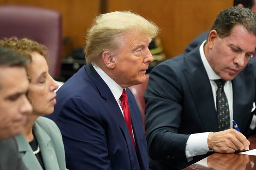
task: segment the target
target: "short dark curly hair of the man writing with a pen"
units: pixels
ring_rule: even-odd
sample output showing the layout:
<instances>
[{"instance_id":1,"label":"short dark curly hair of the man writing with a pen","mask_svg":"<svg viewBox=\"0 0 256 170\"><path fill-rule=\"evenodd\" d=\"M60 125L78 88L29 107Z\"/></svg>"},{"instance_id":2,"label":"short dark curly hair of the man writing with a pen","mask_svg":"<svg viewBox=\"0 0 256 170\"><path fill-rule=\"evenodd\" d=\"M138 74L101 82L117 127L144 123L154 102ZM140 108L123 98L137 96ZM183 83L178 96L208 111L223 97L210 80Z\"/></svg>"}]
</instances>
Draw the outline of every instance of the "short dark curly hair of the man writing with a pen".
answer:
<instances>
[{"instance_id":1,"label":"short dark curly hair of the man writing with a pen","mask_svg":"<svg viewBox=\"0 0 256 170\"><path fill-rule=\"evenodd\" d=\"M228 37L232 29L243 26L250 34L256 36L256 15L248 8L230 7L221 11L212 24L211 30L216 30L220 38Z\"/></svg>"}]
</instances>

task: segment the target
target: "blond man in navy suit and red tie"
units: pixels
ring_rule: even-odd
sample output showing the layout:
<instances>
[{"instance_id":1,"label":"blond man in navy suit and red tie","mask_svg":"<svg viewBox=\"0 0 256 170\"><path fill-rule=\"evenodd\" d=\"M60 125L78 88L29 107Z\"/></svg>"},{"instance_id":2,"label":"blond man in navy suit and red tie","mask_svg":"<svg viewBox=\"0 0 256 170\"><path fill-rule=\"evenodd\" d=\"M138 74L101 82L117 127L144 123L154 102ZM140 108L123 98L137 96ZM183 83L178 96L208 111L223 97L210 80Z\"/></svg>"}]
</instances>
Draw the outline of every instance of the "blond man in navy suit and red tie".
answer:
<instances>
[{"instance_id":1,"label":"blond man in navy suit and red tie","mask_svg":"<svg viewBox=\"0 0 256 170\"><path fill-rule=\"evenodd\" d=\"M145 82L153 61L148 44L158 31L128 11L96 17L87 65L58 90L49 116L61 130L68 169L148 170L142 119L128 87Z\"/></svg>"}]
</instances>

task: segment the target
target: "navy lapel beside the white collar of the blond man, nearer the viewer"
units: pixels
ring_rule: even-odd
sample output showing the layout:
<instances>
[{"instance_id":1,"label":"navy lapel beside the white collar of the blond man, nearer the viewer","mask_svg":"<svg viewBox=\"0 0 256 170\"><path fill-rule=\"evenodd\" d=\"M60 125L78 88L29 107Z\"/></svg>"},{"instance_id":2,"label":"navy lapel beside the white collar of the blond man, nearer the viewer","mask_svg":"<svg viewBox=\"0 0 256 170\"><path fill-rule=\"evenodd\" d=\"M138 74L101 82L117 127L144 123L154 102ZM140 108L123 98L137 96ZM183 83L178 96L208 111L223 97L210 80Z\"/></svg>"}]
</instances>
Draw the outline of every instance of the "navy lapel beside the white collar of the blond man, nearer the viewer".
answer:
<instances>
[{"instance_id":1,"label":"navy lapel beside the white collar of the blond man, nearer the viewer","mask_svg":"<svg viewBox=\"0 0 256 170\"><path fill-rule=\"evenodd\" d=\"M101 95L102 99L105 100L106 105L108 105L109 110L111 111L114 118L116 119L116 123L119 125L120 130L122 131L122 134L127 143L128 152L129 152L129 156L130 156L130 160L131 160L131 166L133 169L136 169L136 167L138 167L138 164L135 164L135 162L137 161L136 152L134 150L134 146L131 141L128 127L125 123L125 119L122 115L122 112L120 111L120 108L116 102L116 99L114 98L111 90L108 88L108 85L99 76L99 74L95 71L95 69L93 68L92 65L90 65L90 64L85 65L85 71L87 72L90 79L96 85L96 88L98 89L99 94Z\"/></svg>"}]
</instances>

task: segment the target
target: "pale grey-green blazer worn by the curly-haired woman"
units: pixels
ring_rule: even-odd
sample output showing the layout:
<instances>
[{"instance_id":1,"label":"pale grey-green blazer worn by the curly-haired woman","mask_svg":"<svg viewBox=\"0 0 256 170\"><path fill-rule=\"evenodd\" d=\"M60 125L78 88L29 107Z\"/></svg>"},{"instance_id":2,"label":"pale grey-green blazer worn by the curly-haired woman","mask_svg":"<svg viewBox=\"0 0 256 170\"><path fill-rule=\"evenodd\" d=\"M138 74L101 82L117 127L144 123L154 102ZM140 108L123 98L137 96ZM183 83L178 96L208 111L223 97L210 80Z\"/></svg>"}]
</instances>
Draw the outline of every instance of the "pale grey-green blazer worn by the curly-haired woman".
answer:
<instances>
[{"instance_id":1,"label":"pale grey-green blazer worn by the curly-haired woman","mask_svg":"<svg viewBox=\"0 0 256 170\"><path fill-rule=\"evenodd\" d=\"M46 170L66 170L64 145L61 132L50 119L38 117L33 126ZM38 159L23 135L15 137L23 162L29 170L42 170Z\"/></svg>"}]
</instances>

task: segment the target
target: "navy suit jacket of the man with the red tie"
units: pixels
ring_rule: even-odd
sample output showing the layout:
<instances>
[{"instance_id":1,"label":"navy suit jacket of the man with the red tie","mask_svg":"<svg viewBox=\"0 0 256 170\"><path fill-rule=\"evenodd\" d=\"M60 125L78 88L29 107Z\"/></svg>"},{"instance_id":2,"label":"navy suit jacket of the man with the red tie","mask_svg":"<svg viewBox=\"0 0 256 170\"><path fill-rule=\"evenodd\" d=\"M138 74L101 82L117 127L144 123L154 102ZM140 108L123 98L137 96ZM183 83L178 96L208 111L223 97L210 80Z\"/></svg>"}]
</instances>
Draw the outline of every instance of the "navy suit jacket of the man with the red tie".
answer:
<instances>
[{"instance_id":1,"label":"navy suit jacket of the man with the red tie","mask_svg":"<svg viewBox=\"0 0 256 170\"><path fill-rule=\"evenodd\" d=\"M140 110L127 88L137 154L122 112L92 65L85 65L58 91L49 116L60 128L70 170L148 170Z\"/></svg>"}]
</instances>

